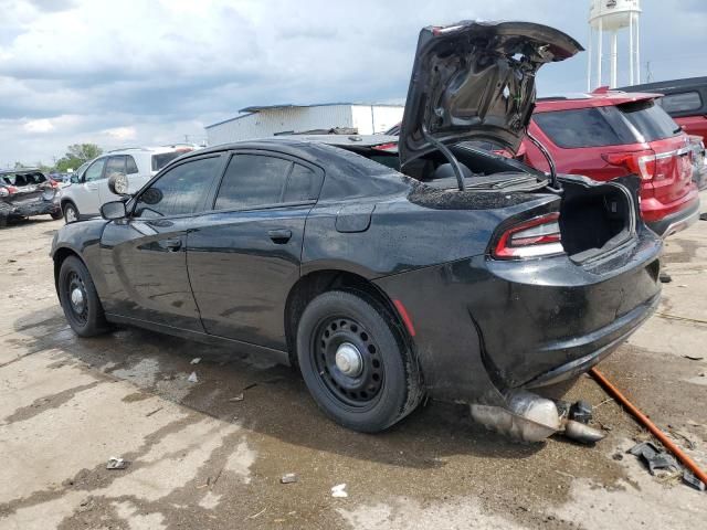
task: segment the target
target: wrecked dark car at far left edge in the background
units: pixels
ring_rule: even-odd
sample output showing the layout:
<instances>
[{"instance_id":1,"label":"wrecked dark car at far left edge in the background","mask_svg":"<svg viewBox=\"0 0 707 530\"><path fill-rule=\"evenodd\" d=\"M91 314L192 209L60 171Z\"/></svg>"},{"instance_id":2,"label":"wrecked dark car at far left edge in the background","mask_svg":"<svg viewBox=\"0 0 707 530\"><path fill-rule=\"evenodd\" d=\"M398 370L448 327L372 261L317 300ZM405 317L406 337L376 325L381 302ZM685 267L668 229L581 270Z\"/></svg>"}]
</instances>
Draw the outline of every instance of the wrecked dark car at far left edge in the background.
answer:
<instances>
[{"instance_id":1,"label":"wrecked dark car at far left edge in the background","mask_svg":"<svg viewBox=\"0 0 707 530\"><path fill-rule=\"evenodd\" d=\"M0 171L0 226L12 219L33 215L61 219L60 194L59 183L39 169Z\"/></svg>"}]
</instances>

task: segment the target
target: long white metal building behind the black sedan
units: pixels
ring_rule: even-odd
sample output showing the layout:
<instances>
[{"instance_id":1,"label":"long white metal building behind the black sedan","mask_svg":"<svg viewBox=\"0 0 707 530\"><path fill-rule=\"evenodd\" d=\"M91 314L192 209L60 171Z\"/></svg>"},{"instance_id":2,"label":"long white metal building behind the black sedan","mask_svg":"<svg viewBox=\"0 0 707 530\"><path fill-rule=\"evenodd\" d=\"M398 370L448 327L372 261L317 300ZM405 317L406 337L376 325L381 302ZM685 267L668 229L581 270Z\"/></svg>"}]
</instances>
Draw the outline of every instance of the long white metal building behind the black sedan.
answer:
<instances>
[{"instance_id":1,"label":"long white metal building behind the black sedan","mask_svg":"<svg viewBox=\"0 0 707 530\"><path fill-rule=\"evenodd\" d=\"M402 105L327 103L245 107L231 119L205 127L209 145L264 138L279 134L357 129L359 135L383 132L402 119Z\"/></svg>"}]
</instances>

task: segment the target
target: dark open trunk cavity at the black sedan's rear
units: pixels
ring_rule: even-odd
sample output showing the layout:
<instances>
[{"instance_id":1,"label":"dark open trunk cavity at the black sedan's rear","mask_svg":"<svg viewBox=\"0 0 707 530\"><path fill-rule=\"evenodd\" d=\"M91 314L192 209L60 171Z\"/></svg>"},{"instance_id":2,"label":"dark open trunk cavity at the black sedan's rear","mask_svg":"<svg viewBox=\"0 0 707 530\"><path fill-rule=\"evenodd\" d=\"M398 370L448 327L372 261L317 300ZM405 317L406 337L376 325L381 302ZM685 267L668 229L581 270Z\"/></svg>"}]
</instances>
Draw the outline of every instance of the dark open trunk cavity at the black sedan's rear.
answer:
<instances>
[{"instance_id":1,"label":"dark open trunk cavity at the black sedan's rear","mask_svg":"<svg viewBox=\"0 0 707 530\"><path fill-rule=\"evenodd\" d=\"M635 206L621 186L585 187L564 181L563 187L559 224L570 259L584 262L633 235Z\"/></svg>"}]
</instances>

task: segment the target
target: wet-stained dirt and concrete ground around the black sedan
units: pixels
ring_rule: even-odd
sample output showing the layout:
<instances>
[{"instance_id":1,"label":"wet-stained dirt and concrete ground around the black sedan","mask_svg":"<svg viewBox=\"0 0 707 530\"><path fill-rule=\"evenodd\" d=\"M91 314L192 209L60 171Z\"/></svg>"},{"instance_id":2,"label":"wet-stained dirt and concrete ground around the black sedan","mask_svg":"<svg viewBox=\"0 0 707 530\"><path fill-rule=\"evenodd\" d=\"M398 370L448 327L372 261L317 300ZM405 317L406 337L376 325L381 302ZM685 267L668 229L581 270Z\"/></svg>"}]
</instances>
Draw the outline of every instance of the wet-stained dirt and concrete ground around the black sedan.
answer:
<instances>
[{"instance_id":1,"label":"wet-stained dirt and concrete ground around the black sedan","mask_svg":"<svg viewBox=\"0 0 707 530\"><path fill-rule=\"evenodd\" d=\"M48 257L60 226L0 232L2 529L707 528L707 494L623 454L647 436L587 377L560 390L597 406L595 447L509 443L440 403L363 435L287 368L135 329L78 340ZM664 267L658 315L600 368L707 467L707 222L668 242Z\"/></svg>"}]
</instances>

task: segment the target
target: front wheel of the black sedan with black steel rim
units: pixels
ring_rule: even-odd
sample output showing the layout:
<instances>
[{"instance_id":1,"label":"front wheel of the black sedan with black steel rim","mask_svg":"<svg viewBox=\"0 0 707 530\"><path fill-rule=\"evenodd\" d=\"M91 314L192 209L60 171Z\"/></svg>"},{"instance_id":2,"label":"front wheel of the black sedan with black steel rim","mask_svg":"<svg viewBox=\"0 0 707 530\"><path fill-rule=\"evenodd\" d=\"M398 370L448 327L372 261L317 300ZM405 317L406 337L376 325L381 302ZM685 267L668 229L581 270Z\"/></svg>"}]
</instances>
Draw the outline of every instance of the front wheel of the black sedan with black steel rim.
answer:
<instances>
[{"instance_id":1,"label":"front wheel of the black sedan with black steel rim","mask_svg":"<svg viewBox=\"0 0 707 530\"><path fill-rule=\"evenodd\" d=\"M80 337L94 337L108 330L103 305L84 263L68 256L59 272L59 300L68 325Z\"/></svg>"}]
</instances>

